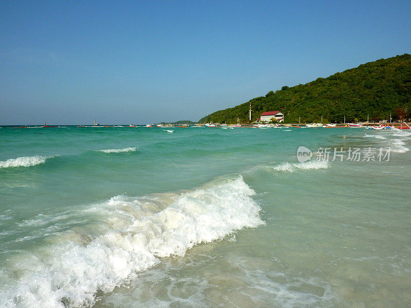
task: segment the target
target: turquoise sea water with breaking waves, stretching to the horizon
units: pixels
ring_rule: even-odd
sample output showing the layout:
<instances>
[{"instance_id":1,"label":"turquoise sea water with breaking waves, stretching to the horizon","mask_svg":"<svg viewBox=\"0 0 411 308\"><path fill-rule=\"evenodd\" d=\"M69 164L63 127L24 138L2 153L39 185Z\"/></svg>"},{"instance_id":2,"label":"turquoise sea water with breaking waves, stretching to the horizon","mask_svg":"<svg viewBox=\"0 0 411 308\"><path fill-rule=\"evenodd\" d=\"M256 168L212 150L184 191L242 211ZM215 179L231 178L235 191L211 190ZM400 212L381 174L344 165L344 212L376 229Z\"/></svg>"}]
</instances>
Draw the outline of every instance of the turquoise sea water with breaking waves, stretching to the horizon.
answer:
<instances>
[{"instance_id":1,"label":"turquoise sea water with breaking waves, stretching to the horizon","mask_svg":"<svg viewBox=\"0 0 411 308\"><path fill-rule=\"evenodd\" d=\"M411 306L410 148L397 129L3 127L0 306Z\"/></svg>"}]
</instances>

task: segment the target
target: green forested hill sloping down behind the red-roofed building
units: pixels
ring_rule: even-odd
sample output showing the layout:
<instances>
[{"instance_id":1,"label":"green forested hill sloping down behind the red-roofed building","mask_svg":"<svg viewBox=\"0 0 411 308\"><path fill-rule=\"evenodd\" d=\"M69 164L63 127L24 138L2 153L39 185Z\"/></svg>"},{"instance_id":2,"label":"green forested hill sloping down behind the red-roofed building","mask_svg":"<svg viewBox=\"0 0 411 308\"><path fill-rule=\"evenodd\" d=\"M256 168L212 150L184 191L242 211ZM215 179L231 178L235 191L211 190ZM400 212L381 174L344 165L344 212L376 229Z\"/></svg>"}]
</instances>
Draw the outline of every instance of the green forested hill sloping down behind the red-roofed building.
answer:
<instances>
[{"instance_id":1,"label":"green forested hill sloping down behind the red-roofed building","mask_svg":"<svg viewBox=\"0 0 411 308\"><path fill-rule=\"evenodd\" d=\"M305 85L284 86L251 101L251 119L264 111L281 110L286 123L347 122L409 118L411 111L411 55L403 54L362 64L357 68L318 78ZM401 108L398 109L398 108ZM249 102L213 112L199 123L249 122Z\"/></svg>"}]
</instances>

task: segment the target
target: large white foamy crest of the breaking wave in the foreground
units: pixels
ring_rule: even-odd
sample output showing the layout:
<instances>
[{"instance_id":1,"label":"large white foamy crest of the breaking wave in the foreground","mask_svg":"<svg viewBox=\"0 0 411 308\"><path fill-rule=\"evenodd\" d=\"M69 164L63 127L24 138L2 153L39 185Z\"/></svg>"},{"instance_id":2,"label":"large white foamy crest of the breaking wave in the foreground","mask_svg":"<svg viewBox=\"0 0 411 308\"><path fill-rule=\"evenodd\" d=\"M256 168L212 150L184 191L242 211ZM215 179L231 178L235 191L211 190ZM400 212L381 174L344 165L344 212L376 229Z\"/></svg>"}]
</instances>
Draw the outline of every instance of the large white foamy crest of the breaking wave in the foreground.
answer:
<instances>
[{"instance_id":1,"label":"large white foamy crest of the breaking wave in the foreground","mask_svg":"<svg viewBox=\"0 0 411 308\"><path fill-rule=\"evenodd\" d=\"M251 198L254 194L238 177L172 198L169 194L115 197L104 208L111 208L112 216L120 214L118 219L127 217L127 225L111 228L88 244L73 238L49 246L40 256L20 256L14 262L25 266L16 267L20 272L13 283L8 279L10 288L0 295L0 306L92 305L98 290L113 291L159 263L159 257L184 256L194 245L264 224L260 207ZM163 197L171 204L156 207L155 202L164 205Z\"/></svg>"}]
</instances>

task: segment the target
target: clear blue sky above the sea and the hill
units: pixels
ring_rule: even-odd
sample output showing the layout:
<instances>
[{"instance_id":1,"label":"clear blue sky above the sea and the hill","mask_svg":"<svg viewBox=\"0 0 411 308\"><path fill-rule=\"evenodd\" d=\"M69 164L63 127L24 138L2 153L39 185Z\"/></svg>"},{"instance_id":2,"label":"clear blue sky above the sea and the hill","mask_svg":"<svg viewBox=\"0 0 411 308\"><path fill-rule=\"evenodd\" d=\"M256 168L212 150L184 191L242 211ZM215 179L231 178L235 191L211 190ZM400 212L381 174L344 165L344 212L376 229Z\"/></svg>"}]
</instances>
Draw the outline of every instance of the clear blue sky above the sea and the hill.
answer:
<instances>
[{"instance_id":1,"label":"clear blue sky above the sea and the hill","mask_svg":"<svg viewBox=\"0 0 411 308\"><path fill-rule=\"evenodd\" d=\"M411 53L410 1L2 1L0 125L192 120Z\"/></svg>"}]
</instances>

